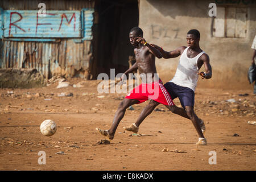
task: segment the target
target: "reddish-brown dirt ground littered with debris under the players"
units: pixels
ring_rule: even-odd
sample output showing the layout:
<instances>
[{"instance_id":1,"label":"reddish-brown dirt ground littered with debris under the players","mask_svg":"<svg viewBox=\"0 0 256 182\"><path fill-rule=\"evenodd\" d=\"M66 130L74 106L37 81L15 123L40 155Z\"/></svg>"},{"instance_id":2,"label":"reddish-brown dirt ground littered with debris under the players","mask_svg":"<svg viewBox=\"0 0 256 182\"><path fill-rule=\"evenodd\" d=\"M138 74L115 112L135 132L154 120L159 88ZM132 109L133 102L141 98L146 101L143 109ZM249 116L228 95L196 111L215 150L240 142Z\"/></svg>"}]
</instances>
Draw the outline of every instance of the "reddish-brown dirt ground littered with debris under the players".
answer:
<instances>
[{"instance_id":1,"label":"reddish-brown dirt ground littered with debris under the players","mask_svg":"<svg viewBox=\"0 0 256 182\"><path fill-rule=\"evenodd\" d=\"M55 82L43 88L0 90L0 170L256 169L256 126L247 123L256 121L253 90L197 88L195 111L205 121L207 146L196 146L191 121L163 105L145 119L138 135L124 132L122 127L135 122L148 101L126 111L110 144L98 144L104 137L95 128L109 129L126 94L98 94L99 81L84 81L80 88L72 85L81 79L68 81L67 88L57 89ZM245 93L249 96L239 96ZM57 124L52 137L40 133L45 119ZM46 152L45 165L38 163L39 151ZM60 151L64 154L56 154ZM210 151L216 151L217 164L209 164Z\"/></svg>"}]
</instances>

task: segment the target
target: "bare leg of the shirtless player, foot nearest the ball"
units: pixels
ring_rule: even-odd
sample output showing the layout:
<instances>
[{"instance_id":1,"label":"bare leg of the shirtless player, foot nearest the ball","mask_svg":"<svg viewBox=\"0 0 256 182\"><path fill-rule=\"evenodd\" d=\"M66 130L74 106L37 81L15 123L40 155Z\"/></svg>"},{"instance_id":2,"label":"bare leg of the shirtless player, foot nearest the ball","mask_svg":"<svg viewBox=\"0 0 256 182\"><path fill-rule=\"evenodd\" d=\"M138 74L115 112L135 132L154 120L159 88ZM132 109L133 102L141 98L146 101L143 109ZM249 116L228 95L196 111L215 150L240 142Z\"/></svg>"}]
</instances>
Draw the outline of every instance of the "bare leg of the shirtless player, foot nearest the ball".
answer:
<instances>
[{"instance_id":1,"label":"bare leg of the shirtless player, foot nearest the ball","mask_svg":"<svg viewBox=\"0 0 256 182\"><path fill-rule=\"evenodd\" d=\"M107 137L109 139L113 139L114 134L115 134L115 130L117 130L119 122L121 121L121 119L125 115L126 109L128 107L130 107L131 105L134 105L134 104L137 104L137 103L138 103L137 100L125 98L119 104L118 109L115 112L114 119L113 119L113 122L112 122L112 125L111 125L110 129L109 130L101 130L99 128L96 128L96 131L98 131L100 134L104 135L105 137Z\"/></svg>"}]
</instances>

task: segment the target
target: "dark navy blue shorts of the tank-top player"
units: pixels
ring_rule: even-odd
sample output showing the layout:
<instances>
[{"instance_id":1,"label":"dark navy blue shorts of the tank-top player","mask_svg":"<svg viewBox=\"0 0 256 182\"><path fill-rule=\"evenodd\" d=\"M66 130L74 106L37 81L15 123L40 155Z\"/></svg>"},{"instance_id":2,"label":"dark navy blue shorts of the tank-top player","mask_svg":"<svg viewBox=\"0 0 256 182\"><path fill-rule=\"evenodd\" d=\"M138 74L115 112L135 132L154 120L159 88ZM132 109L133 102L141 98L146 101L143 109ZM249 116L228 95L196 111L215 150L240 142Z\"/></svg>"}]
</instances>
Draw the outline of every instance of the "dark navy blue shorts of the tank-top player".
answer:
<instances>
[{"instance_id":1,"label":"dark navy blue shorts of the tank-top player","mask_svg":"<svg viewBox=\"0 0 256 182\"><path fill-rule=\"evenodd\" d=\"M172 100L179 97L180 104L183 108L185 108L185 106L194 106L195 93L192 89L176 85L173 82L167 82L164 84L164 87L169 92Z\"/></svg>"}]
</instances>

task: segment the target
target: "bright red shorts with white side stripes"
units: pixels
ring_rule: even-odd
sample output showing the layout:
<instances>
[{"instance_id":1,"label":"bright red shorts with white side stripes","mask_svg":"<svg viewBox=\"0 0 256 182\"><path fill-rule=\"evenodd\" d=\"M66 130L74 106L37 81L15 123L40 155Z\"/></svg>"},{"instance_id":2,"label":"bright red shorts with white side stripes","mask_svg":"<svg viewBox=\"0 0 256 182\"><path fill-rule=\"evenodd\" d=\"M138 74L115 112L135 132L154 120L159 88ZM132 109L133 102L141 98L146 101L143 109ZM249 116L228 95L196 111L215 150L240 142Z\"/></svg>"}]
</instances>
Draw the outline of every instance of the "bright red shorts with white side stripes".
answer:
<instances>
[{"instance_id":1,"label":"bright red shorts with white side stripes","mask_svg":"<svg viewBox=\"0 0 256 182\"><path fill-rule=\"evenodd\" d=\"M164 88L163 84L159 82L152 82L150 84L141 84L131 90L131 92L125 97L129 99L138 100L137 104L141 104L147 100L154 100L163 105L174 106L170 94Z\"/></svg>"}]
</instances>

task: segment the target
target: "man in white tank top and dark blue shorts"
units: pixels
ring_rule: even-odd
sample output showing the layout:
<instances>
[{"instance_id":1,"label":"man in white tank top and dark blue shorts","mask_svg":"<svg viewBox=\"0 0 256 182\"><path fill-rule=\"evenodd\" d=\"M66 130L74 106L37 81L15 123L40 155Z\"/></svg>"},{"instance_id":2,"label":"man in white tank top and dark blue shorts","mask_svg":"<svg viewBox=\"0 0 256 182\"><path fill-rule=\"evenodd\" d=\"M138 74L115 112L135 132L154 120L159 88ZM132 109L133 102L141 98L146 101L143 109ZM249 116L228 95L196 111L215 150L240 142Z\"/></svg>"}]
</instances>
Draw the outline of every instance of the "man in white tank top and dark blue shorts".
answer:
<instances>
[{"instance_id":1,"label":"man in white tank top and dark blue shorts","mask_svg":"<svg viewBox=\"0 0 256 182\"><path fill-rule=\"evenodd\" d=\"M181 46L176 48L174 51L167 52L155 44L151 44L151 46L157 48L165 59L181 55L174 78L164 84L164 87L167 89L172 99L179 97L180 103L188 115L188 117L186 115L183 115L183 117L191 119L197 134L199 135L199 141L196 144L207 145L207 140L203 135L203 132L205 131L204 122L202 119L197 117L193 110L195 89L199 75L202 79L209 79L212 77L212 67L210 66L209 56L200 48L199 40L200 32L197 30L190 30L187 33L188 47ZM205 72L199 73L202 65L204 65ZM146 118L157 105L159 105L158 102L151 100L150 103L142 110L137 122L133 123L133 125L129 127L123 127L123 129L137 133L139 125L141 125L144 118ZM179 112L181 111L179 110ZM134 129L134 125L137 126L137 129Z\"/></svg>"}]
</instances>

